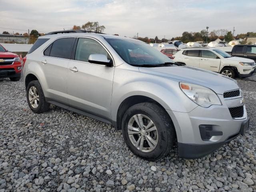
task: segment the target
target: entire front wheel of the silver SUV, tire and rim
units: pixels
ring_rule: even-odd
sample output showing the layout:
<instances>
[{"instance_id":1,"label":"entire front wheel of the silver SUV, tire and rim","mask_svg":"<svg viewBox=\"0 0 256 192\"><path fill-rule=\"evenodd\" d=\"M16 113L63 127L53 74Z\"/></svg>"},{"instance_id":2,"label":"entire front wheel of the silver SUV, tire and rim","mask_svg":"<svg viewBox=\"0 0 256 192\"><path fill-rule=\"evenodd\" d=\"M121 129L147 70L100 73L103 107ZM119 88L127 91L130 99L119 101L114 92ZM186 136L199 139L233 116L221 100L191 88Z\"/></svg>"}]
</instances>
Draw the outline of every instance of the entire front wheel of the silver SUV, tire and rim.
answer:
<instances>
[{"instance_id":1,"label":"entire front wheel of the silver SUV, tire and rim","mask_svg":"<svg viewBox=\"0 0 256 192\"><path fill-rule=\"evenodd\" d=\"M151 161L170 152L175 136L170 116L154 103L130 107L122 120L122 134L134 154Z\"/></svg>"}]
</instances>

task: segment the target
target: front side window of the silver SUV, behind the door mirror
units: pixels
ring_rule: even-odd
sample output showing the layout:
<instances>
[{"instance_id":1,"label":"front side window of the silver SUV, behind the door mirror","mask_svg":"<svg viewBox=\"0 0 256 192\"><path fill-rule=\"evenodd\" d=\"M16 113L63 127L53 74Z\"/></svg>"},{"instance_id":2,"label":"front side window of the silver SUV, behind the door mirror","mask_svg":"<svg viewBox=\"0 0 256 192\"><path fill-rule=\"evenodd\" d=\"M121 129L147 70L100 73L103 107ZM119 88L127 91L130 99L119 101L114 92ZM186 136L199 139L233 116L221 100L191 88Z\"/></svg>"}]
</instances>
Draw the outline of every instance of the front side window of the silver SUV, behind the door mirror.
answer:
<instances>
[{"instance_id":1,"label":"front side window of the silver SUV, behind the door mirror","mask_svg":"<svg viewBox=\"0 0 256 192\"><path fill-rule=\"evenodd\" d=\"M95 40L79 38L76 46L75 60L88 62L91 54L104 54L110 59L108 52Z\"/></svg>"}]
</instances>

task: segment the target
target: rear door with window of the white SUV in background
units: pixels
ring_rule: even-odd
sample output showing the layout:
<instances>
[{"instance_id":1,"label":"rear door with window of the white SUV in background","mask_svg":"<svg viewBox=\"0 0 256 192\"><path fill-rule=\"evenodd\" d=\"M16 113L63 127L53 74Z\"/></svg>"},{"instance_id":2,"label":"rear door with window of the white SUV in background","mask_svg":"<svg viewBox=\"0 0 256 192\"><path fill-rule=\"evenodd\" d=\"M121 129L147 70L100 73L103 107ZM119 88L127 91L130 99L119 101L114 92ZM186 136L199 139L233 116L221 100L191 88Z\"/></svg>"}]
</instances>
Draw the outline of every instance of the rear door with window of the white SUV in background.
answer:
<instances>
[{"instance_id":1,"label":"rear door with window of the white SUV in background","mask_svg":"<svg viewBox=\"0 0 256 192\"><path fill-rule=\"evenodd\" d=\"M186 52L183 52L184 54L184 63L187 66L193 66L199 68L200 63L200 50L186 50Z\"/></svg>"}]
</instances>

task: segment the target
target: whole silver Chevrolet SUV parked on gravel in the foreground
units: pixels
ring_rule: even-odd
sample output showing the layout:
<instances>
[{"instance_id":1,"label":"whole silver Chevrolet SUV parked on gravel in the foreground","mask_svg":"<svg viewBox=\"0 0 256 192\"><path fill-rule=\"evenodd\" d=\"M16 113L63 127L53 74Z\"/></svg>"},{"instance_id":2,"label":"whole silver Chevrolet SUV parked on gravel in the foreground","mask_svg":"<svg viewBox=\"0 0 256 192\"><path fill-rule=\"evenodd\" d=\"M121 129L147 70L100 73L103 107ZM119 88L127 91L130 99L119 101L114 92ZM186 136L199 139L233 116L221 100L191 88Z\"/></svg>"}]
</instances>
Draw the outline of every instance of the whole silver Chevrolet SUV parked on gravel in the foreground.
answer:
<instances>
[{"instance_id":1,"label":"whole silver Chevrolet SUV parked on gravel in the foreground","mask_svg":"<svg viewBox=\"0 0 256 192\"><path fill-rule=\"evenodd\" d=\"M51 32L26 58L23 81L33 112L54 104L112 124L147 160L168 154L176 140L180 157L199 158L248 129L236 80L181 66L139 40Z\"/></svg>"}]
</instances>

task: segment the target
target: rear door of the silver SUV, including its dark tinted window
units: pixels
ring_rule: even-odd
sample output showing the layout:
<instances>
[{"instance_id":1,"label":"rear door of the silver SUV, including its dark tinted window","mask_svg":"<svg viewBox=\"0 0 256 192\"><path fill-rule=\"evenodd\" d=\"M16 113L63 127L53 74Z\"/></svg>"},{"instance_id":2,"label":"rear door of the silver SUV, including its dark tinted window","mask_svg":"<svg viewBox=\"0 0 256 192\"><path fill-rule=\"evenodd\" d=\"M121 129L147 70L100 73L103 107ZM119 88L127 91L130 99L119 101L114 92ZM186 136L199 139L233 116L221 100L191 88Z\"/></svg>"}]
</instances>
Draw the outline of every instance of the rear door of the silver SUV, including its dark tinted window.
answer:
<instances>
[{"instance_id":1,"label":"rear door of the silver SUV, including its dark tinted window","mask_svg":"<svg viewBox=\"0 0 256 192\"><path fill-rule=\"evenodd\" d=\"M67 68L75 38L59 38L44 50L42 69L51 99L68 103Z\"/></svg>"}]
</instances>

